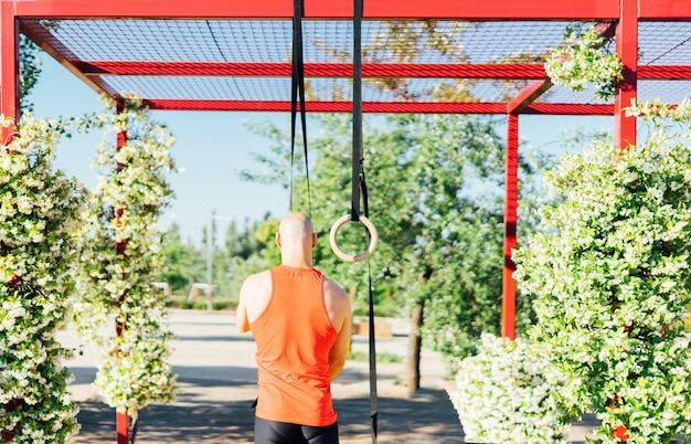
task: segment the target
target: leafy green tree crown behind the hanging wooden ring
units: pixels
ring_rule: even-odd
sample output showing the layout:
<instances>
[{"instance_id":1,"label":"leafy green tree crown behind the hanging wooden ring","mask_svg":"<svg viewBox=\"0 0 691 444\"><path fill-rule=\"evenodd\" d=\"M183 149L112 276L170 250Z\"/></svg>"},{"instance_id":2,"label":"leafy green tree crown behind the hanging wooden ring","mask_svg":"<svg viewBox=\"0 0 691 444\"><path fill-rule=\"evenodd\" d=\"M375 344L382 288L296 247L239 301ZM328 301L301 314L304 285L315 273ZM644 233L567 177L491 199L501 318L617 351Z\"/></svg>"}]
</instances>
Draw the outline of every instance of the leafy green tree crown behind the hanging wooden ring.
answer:
<instances>
[{"instance_id":1,"label":"leafy green tree crown behind the hanging wooden ring","mask_svg":"<svg viewBox=\"0 0 691 444\"><path fill-rule=\"evenodd\" d=\"M295 208L311 207L322 240L318 266L347 288L355 313L366 306L371 269L380 310L389 305L407 315L417 307L422 319L424 307L430 347L455 359L472 352L480 332L498 331L501 309L504 147L495 123L459 115L365 116L370 219L380 246L369 263L358 264L343 264L323 242L333 221L350 212L351 118L326 115L318 124L320 137L310 140L318 154L310 165L311 205L304 181L296 181L294 197ZM276 142L278 160L270 161L286 165L288 138L275 128L264 134ZM279 180L289 176L274 171ZM536 169L522 161L521 171L530 179ZM342 250L365 250L361 225L342 231Z\"/></svg>"}]
</instances>

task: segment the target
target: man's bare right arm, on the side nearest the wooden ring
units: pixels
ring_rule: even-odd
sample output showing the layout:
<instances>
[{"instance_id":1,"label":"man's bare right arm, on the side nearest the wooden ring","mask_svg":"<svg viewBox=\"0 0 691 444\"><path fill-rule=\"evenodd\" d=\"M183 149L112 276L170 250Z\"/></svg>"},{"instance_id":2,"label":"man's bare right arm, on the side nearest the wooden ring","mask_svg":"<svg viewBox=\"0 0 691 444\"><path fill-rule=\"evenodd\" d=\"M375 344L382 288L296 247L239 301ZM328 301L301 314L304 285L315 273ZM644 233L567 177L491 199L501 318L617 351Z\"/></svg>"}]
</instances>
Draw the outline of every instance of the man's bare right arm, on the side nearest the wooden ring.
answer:
<instances>
[{"instance_id":1,"label":"man's bare right arm, on the side nearest the wooden ring","mask_svg":"<svg viewBox=\"0 0 691 444\"><path fill-rule=\"evenodd\" d=\"M329 352L329 374L333 380L346 366L352 330L351 308L346 292L328 279L325 281L325 296L331 324L338 331L336 342Z\"/></svg>"}]
</instances>

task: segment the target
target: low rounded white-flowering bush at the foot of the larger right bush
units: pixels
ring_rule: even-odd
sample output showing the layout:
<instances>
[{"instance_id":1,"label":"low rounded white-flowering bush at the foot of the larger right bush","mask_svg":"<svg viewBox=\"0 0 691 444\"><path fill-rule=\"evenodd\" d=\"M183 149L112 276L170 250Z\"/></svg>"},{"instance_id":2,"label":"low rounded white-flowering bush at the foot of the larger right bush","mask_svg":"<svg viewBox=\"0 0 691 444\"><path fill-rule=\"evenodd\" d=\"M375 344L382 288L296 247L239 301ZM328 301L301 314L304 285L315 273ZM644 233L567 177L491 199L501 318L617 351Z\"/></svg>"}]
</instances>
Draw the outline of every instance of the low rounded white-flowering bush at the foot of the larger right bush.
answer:
<instances>
[{"instance_id":1,"label":"low rounded white-flowering bush at the foot of the larger right bush","mask_svg":"<svg viewBox=\"0 0 691 444\"><path fill-rule=\"evenodd\" d=\"M476 356L460 361L449 398L467 443L553 444L567 425L551 397L550 361L530 343L483 334Z\"/></svg>"}]
</instances>

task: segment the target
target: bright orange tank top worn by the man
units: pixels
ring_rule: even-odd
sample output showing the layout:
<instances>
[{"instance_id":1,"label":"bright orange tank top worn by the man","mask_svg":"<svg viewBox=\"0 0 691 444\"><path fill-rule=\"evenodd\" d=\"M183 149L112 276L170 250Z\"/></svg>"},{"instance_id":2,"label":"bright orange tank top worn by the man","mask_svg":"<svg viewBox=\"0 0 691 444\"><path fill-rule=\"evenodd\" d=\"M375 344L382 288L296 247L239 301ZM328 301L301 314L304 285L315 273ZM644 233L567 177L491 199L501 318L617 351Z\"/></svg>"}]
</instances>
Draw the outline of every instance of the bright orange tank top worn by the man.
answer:
<instances>
[{"instance_id":1,"label":"bright orange tank top worn by the man","mask_svg":"<svg viewBox=\"0 0 691 444\"><path fill-rule=\"evenodd\" d=\"M336 422L329 352L338 332L323 304L323 275L315 268L270 269L272 297L249 328L257 345L256 415L325 426Z\"/></svg>"}]
</instances>

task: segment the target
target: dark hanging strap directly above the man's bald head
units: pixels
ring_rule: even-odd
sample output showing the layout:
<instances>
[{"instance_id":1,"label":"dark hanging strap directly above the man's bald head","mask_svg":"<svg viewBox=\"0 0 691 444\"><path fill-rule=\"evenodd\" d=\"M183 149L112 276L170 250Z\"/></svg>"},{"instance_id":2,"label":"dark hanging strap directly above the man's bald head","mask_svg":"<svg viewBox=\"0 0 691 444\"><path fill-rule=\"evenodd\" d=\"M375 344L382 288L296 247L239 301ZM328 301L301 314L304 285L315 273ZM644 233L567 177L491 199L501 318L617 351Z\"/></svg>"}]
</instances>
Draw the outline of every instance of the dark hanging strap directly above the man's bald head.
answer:
<instances>
[{"instance_id":1,"label":"dark hanging strap directly above the man's bald head","mask_svg":"<svg viewBox=\"0 0 691 444\"><path fill-rule=\"evenodd\" d=\"M297 119L298 92L300 98L300 120L302 123L302 146L305 147L305 171L307 175L307 204L311 214L311 190L309 187L309 162L307 160L307 118L305 110L305 63L302 59L302 17L305 4L302 0L293 2L293 68L290 88L290 203L288 211L293 211L293 163L295 159L295 133Z\"/></svg>"}]
</instances>

